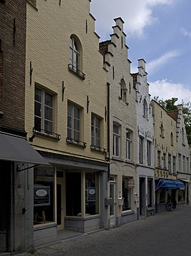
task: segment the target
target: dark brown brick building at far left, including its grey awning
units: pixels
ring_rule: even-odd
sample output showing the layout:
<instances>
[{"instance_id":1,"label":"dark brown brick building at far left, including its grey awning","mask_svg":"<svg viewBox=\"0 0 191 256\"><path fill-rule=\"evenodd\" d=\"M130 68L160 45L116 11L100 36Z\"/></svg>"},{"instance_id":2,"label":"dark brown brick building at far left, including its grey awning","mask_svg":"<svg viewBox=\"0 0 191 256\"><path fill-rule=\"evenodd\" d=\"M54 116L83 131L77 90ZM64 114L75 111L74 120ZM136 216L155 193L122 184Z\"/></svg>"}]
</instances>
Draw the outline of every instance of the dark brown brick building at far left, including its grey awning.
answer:
<instances>
[{"instance_id":1,"label":"dark brown brick building at far left, including its grey awning","mask_svg":"<svg viewBox=\"0 0 191 256\"><path fill-rule=\"evenodd\" d=\"M0 1L0 252L32 244L28 167L46 164L27 143L24 128L26 11L24 0Z\"/></svg>"}]
</instances>

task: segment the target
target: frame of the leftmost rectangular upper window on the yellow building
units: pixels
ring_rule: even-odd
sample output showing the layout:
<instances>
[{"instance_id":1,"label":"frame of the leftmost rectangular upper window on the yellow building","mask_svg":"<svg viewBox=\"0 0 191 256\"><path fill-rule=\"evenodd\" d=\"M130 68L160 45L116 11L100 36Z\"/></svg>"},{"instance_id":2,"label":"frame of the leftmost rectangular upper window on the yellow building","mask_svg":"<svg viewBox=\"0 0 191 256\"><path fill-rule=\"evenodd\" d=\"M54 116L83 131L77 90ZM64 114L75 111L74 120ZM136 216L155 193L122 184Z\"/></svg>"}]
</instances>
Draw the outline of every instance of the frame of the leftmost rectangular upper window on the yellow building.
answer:
<instances>
[{"instance_id":1,"label":"frame of the leftmost rectangular upper window on the yellow building","mask_svg":"<svg viewBox=\"0 0 191 256\"><path fill-rule=\"evenodd\" d=\"M45 134L50 133L50 135L51 135L52 133L54 133L54 101L55 101L55 97L50 92L47 92L45 89L42 89L40 87L35 87L34 90L36 91L36 89L41 91L41 102L38 100L35 100L35 92L34 92L34 119L39 118L41 121L40 121L40 131L38 131L35 128L35 120L34 120L34 131L37 131L39 133L45 133ZM52 106L45 104L46 94L48 94L50 97L52 97ZM41 105L41 108L40 108L41 115L35 115L35 103ZM46 108L52 112L52 120L45 117L45 109ZM51 124L52 128L50 130L45 129L46 122Z\"/></svg>"}]
</instances>

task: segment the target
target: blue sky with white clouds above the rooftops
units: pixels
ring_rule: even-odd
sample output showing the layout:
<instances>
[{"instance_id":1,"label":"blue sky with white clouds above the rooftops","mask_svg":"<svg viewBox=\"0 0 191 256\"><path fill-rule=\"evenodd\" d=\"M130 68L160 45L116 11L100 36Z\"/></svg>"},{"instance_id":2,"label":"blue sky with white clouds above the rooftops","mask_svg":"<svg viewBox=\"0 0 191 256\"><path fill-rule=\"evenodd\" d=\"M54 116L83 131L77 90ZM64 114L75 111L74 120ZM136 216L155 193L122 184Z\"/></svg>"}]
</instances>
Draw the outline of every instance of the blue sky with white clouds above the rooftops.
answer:
<instances>
[{"instance_id":1,"label":"blue sky with white clouds above the rooftops","mask_svg":"<svg viewBox=\"0 0 191 256\"><path fill-rule=\"evenodd\" d=\"M95 32L110 40L113 19L124 20L131 73L146 61L151 97L191 102L191 1L91 0Z\"/></svg>"}]
</instances>

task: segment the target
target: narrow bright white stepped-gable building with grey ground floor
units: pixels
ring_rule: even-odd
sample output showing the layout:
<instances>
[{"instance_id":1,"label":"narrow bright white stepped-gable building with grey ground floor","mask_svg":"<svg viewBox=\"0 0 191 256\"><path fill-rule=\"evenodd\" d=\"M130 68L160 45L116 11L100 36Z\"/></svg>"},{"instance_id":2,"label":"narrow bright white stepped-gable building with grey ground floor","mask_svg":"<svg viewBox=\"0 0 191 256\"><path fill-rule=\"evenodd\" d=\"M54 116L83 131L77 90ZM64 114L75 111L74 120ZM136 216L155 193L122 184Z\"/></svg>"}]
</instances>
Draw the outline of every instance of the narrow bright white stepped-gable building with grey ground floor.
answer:
<instances>
[{"instance_id":1,"label":"narrow bright white stepped-gable building with grey ground floor","mask_svg":"<svg viewBox=\"0 0 191 256\"><path fill-rule=\"evenodd\" d=\"M136 173L139 196L139 218L155 213L154 193L154 127L147 83L146 63L139 59L138 73L133 74L136 88Z\"/></svg>"}]
</instances>

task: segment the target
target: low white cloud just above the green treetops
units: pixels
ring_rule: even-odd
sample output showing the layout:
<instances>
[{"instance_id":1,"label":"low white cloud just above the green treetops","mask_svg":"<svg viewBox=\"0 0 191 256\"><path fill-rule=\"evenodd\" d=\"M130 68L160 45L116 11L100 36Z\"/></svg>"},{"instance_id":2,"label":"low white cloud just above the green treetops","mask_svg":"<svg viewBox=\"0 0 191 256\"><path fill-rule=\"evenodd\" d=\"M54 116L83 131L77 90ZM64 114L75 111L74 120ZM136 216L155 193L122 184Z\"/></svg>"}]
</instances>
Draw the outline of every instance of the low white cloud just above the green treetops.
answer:
<instances>
[{"instance_id":1,"label":"low white cloud just above the green treetops","mask_svg":"<svg viewBox=\"0 0 191 256\"><path fill-rule=\"evenodd\" d=\"M158 80L149 83L149 93L154 96L159 96L159 99L168 100L172 97L178 98L177 103L190 102L191 89L184 84L174 84L167 79Z\"/></svg>"}]
</instances>

